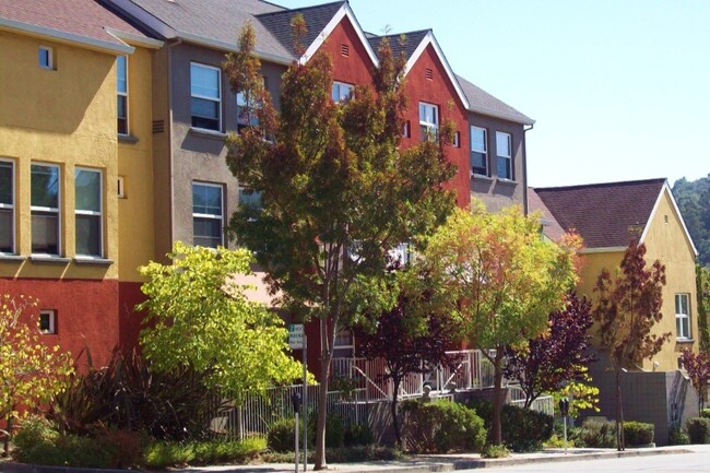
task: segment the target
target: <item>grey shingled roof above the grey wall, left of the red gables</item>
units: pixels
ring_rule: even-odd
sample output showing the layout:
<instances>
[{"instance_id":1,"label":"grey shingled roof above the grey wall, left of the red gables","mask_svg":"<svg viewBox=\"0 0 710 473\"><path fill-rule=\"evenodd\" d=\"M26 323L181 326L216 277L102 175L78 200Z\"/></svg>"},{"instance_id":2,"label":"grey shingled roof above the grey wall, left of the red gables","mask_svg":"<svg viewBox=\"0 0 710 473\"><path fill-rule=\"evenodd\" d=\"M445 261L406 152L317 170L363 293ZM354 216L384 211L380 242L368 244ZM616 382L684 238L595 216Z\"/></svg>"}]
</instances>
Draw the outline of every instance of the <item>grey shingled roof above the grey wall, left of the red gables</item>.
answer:
<instances>
[{"instance_id":1,"label":"grey shingled roof above the grey wall, left of the red gables","mask_svg":"<svg viewBox=\"0 0 710 473\"><path fill-rule=\"evenodd\" d=\"M256 34L256 51L262 58L288 63L286 49L256 15L286 11L261 0L106 0L131 14L166 38L223 50L237 50L237 36L247 22Z\"/></svg>"}]
</instances>

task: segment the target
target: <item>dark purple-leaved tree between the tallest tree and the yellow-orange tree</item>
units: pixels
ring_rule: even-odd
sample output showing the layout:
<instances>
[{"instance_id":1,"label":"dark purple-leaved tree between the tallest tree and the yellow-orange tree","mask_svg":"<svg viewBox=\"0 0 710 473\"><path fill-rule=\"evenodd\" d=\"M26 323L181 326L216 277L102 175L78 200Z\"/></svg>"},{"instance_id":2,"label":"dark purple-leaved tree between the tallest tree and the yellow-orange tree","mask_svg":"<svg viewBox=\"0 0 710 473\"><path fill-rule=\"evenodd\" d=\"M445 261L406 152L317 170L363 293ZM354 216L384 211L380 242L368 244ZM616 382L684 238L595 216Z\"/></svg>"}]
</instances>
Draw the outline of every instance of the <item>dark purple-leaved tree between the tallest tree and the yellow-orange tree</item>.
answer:
<instances>
[{"instance_id":1,"label":"dark purple-leaved tree between the tallest tree and the yellow-orange tree","mask_svg":"<svg viewBox=\"0 0 710 473\"><path fill-rule=\"evenodd\" d=\"M427 296L424 296L427 298ZM397 441L402 436L397 415L398 393L402 381L411 374L427 373L441 365L453 370L460 356L447 353L453 347L457 334L454 322L435 314L415 315L412 298L401 295L392 310L382 312L374 331L356 328L357 352L367 359L382 358L387 366L380 380L392 381L392 423Z\"/></svg>"}]
</instances>

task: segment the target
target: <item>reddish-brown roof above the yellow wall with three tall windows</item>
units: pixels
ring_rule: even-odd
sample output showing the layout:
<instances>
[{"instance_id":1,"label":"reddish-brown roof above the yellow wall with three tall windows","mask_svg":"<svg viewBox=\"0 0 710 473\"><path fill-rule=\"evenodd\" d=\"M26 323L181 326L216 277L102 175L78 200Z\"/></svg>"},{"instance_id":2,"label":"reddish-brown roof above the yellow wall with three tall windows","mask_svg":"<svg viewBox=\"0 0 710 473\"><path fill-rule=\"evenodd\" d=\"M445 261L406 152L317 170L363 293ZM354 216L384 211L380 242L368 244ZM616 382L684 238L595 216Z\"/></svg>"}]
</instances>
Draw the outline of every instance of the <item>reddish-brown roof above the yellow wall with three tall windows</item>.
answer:
<instances>
[{"instance_id":1,"label":"reddish-brown roof above the yellow wall with three tall windows","mask_svg":"<svg viewBox=\"0 0 710 473\"><path fill-rule=\"evenodd\" d=\"M119 38L122 35L138 42L152 42L96 0L2 0L0 28L119 54L133 52L133 48Z\"/></svg>"}]
</instances>

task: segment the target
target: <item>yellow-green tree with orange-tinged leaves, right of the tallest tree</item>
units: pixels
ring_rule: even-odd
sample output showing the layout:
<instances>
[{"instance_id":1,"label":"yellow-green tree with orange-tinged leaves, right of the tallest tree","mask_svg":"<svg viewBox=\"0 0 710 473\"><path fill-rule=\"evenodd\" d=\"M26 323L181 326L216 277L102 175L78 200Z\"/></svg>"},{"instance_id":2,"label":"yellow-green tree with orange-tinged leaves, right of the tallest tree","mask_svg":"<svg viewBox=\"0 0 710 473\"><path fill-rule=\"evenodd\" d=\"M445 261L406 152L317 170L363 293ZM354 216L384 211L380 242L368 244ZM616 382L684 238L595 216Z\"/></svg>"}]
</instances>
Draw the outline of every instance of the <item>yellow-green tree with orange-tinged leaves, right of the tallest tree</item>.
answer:
<instances>
[{"instance_id":1,"label":"yellow-green tree with orange-tinged leaves, right of the tallest tree","mask_svg":"<svg viewBox=\"0 0 710 473\"><path fill-rule=\"evenodd\" d=\"M545 332L549 312L564 308L577 282L578 247L578 237L545 241L537 214L517 206L492 214L474 202L451 215L425 251L423 263L448 294L445 310L458 314L468 340L494 366L494 444L501 442L506 347Z\"/></svg>"}]
</instances>

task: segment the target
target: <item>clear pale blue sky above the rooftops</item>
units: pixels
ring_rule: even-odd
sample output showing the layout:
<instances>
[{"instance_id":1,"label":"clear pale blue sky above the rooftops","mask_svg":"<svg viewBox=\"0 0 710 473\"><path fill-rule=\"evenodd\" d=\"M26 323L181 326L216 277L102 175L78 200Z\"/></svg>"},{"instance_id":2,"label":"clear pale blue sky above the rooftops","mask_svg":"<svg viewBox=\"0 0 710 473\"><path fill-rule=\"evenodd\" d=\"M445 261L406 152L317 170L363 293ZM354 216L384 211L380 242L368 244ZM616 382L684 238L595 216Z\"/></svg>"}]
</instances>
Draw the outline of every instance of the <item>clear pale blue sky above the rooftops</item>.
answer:
<instances>
[{"instance_id":1,"label":"clear pale blue sky above the rooftops","mask_svg":"<svg viewBox=\"0 0 710 473\"><path fill-rule=\"evenodd\" d=\"M288 8L329 0L273 0ZM433 28L453 70L536 120L535 187L710 173L710 0L351 0Z\"/></svg>"}]
</instances>

